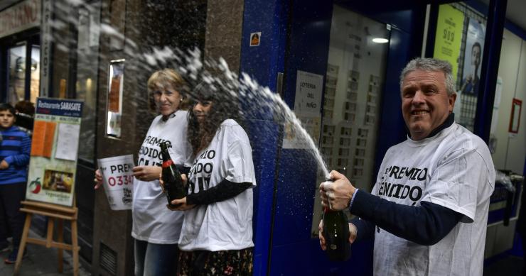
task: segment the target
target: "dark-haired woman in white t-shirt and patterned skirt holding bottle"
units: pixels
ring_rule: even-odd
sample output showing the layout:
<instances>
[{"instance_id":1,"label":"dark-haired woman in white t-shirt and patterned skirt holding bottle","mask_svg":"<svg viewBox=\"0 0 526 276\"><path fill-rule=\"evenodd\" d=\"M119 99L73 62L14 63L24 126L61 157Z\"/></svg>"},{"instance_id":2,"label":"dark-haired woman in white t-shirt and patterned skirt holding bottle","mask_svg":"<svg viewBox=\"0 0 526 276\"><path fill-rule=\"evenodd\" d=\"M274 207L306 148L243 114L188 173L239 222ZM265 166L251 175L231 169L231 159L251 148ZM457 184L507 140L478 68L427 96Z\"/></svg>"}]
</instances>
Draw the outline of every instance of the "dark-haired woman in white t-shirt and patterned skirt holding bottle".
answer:
<instances>
[{"instance_id":1,"label":"dark-haired woman in white t-shirt and patterned skirt holding bottle","mask_svg":"<svg viewBox=\"0 0 526 276\"><path fill-rule=\"evenodd\" d=\"M252 275L256 181L249 138L232 119L238 114L235 100L219 85L200 84L194 94L188 196L172 202L186 210L178 275Z\"/></svg>"}]
</instances>

